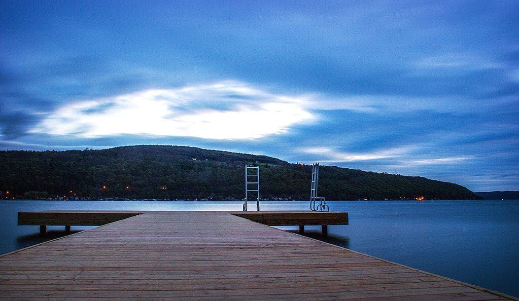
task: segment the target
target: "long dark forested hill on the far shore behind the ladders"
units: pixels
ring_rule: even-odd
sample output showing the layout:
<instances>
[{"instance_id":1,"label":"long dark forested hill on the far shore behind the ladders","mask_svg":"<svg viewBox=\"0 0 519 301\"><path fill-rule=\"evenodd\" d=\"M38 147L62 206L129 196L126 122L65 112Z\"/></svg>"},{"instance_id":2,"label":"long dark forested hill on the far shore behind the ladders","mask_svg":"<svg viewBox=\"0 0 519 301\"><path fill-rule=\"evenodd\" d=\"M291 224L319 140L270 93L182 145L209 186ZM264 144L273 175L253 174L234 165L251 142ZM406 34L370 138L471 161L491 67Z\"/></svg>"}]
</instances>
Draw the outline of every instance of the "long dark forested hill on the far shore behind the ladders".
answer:
<instances>
[{"instance_id":1,"label":"long dark forested hill on the far shore behind the ladders","mask_svg":"<svg viewBox=\"0 0 519 301\"><path fill-rule=\"evenodd\" d=\"M246 164L260 166L260 197L308 199L311 165L179 146L0 151L0 197L242 199ZM350 199L479 199L454 183L322 166L319 195Z\"/></svg>"}]
</instances>

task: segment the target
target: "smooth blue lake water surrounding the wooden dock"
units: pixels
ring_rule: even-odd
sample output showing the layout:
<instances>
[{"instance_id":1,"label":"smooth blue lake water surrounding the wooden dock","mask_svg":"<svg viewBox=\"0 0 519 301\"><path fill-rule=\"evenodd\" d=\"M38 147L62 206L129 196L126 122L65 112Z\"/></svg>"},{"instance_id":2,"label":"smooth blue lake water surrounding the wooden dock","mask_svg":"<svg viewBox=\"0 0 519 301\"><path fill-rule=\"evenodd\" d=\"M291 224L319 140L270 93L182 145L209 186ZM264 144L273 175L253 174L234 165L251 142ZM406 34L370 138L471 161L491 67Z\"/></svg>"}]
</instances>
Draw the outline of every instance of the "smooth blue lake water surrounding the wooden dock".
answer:
<instances>
[{"instance_id":1,"label":"smooth blue lake water surrounding the wooden dock","mask_svg":"<svg viewBox=\"0 0 519 301\"><path fill-rule=\"evenodd\" d=\"M326 241L430 273L519 296L519 200L329 202L349 225L329 226ZM253 206L255 207L255 206ZM236 210L241 202L0 201L0 254L56 238L64 227L18 226L33 210ZM262 202L262 210L307 210L308 202ZM72 227L73 232L91 227ZM297 227L280 227L297 231ZM305 227L320 238L319 226Z\"/></svg>"}]
</instances>

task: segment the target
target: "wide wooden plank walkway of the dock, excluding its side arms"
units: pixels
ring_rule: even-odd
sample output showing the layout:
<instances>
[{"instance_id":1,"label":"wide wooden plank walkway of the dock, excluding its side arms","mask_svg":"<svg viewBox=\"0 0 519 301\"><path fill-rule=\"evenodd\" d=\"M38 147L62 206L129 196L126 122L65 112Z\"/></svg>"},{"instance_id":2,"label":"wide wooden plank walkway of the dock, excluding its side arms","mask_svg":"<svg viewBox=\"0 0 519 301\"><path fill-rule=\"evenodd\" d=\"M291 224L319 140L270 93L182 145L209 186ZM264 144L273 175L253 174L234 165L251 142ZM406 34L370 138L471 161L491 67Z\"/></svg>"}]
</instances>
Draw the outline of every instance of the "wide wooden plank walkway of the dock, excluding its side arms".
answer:
<instances>
[{"instance_id":1,"label":"wide wooden plank walkway of the dock, excluding its side arms","mask_svg":"<svg viewBox=\"0 0 519 301\"><path fill-rule=\"evenodd\" d=\"M0 256L0 298L506 296L221 211L148 211Z\"/></svg>"}]
</instances>

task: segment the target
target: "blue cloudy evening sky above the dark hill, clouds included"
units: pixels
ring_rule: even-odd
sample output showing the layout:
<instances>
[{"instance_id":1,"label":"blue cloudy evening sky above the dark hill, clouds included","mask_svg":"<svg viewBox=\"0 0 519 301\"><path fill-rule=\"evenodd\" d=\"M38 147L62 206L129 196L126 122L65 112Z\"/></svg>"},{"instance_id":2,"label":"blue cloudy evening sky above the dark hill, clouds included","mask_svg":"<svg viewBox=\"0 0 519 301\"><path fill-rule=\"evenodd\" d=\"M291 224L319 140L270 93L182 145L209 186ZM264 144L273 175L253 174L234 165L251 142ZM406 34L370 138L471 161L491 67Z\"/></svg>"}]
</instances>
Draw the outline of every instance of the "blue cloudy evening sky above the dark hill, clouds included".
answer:
<instances>
[{"instance_id":1,"label":"blue cloudy evening sky above the dark hill, clouds included","mask_svg":"<svg viewBox=\"0 0 519 301\"><path fill-rule=\"evenodd\" d=\"M519 1L0 0L0 149L181 145L519 190Z\"/></svg>"}]
</instances>

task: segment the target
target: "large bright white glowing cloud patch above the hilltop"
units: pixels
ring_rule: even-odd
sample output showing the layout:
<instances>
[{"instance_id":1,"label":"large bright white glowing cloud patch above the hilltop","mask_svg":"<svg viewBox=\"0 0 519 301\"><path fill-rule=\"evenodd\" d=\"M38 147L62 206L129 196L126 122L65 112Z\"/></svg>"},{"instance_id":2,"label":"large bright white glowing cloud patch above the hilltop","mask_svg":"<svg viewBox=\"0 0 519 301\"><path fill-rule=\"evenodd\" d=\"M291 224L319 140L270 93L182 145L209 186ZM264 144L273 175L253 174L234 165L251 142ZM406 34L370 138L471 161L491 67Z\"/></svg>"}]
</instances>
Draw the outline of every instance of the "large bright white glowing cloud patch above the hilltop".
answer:
<instances>
[{"instance_id":1,"label":"large bright white glowing cloud patch above the hilltop","mask_svg":"<svg viewBox=\"0 0 519 301\"><path fill-rule=\"evenodd\" d=\"M29 132L96 138L155 135L257 139L289 132L315 116L305 99L236 81L143 90L64 105Z\"/></svg>"}]
</instances>

